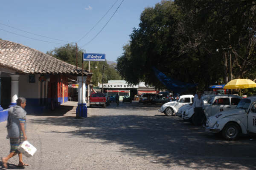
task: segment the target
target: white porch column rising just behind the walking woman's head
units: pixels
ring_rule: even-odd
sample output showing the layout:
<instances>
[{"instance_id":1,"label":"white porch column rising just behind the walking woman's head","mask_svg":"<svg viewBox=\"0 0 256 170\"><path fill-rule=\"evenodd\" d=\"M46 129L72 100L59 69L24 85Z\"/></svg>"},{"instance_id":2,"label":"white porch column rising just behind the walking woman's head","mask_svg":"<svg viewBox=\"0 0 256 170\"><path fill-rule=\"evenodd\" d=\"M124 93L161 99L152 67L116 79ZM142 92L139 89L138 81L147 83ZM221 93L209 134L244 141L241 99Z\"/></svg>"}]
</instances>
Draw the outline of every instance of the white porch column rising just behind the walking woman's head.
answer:
<instances>
[{"instance_id":1,"label":"white porch column rising just behind the walking woman's head","mask_svg":"<svg viewBox=\"0 0 256 170\"><path fill-rule=\"evenodd\" d=\"M15 106L19 95L19 77L20 75L11 76L11 104L9 107Z\"/></svg>"}]
</instances>

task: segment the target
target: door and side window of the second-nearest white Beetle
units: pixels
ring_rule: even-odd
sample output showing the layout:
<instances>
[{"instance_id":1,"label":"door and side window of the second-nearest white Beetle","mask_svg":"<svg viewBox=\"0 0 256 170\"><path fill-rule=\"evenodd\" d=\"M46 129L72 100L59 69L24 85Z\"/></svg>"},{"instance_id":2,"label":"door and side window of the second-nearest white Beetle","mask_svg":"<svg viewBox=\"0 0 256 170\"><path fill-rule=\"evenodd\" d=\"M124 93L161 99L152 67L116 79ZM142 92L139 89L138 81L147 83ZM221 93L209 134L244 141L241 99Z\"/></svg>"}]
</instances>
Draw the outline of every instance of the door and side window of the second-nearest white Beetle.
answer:
<instances>
[{"instance_id":1,"label":"door and side window of the second-nearest white Beetle","mask_svg":"<svg viewBox=\"0 0 256 170\"><path fill-rule=\"evenodd\" d=\"M230 98L217 98L213 101L211 107L211 115L230 109Z\"/></svg>"}]
</instances>

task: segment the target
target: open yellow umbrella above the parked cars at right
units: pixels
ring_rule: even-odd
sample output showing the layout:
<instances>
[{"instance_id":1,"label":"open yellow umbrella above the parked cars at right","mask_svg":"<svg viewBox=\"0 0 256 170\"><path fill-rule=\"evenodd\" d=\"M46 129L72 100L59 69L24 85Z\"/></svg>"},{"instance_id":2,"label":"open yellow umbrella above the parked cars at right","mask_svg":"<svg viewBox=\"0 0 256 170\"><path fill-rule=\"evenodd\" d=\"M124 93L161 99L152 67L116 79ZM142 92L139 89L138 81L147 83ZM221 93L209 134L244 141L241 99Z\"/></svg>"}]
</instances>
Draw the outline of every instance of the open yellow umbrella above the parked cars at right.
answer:
<instances>
[{"instance_id":1,"label":"open yellow umbrella above the parked cars at right","mask_svg":"<svg viewBox=\"0 0 256 170\"><path fill-rule=\"evenodd\" d=\"M246 88L252 88L256 87L256 83L249 80L249 79L234 79L231 80L224 86L224 89L240 89L240 95L241 95L241 89Z\"/></svg>"}]
</instances>

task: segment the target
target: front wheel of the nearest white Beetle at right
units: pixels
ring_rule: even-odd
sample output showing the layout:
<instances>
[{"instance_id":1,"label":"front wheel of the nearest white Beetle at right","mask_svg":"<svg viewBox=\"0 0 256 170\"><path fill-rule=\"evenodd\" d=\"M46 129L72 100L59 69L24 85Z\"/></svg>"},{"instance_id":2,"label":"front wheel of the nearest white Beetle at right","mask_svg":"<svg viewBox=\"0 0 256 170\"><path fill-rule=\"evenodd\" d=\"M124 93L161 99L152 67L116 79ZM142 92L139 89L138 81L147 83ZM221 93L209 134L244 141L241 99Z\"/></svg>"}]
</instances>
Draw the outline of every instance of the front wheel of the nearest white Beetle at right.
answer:
<instances>
[{"instance_id":1,"label":"front wheel of the nearest white Beetle at right","mask_svg":"<svg viewBox=\"0 0 256 170\"><path fill-rule=\"evenodd\" d=\"M240 128L236 123L227 123L222 130L222 136L227 140L236 140L240 133Z\"/></svg>"}]
</instances>

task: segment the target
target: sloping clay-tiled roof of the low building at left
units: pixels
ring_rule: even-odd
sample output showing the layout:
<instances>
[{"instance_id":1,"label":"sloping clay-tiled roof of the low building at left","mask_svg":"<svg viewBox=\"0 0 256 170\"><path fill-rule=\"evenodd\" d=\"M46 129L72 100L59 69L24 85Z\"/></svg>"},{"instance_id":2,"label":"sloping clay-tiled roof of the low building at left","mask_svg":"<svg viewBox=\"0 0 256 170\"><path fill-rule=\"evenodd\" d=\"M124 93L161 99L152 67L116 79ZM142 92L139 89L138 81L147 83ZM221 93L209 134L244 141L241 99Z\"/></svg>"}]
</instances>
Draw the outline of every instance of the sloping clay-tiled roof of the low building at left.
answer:
<instances>
[{"instance_id":1,"label":"sloping clay-tiled roof of the low building at left","mask_svg":"<svg viewBox=\"0 0 256 170\"><path fill-rule=\"evenodd\" d=\"M14 43L0 40L0 66L28 74L81 75L81 68L58 60L50 55ZM88 72L84 71L87 75Z\"/></svg>"}]
</instances>

